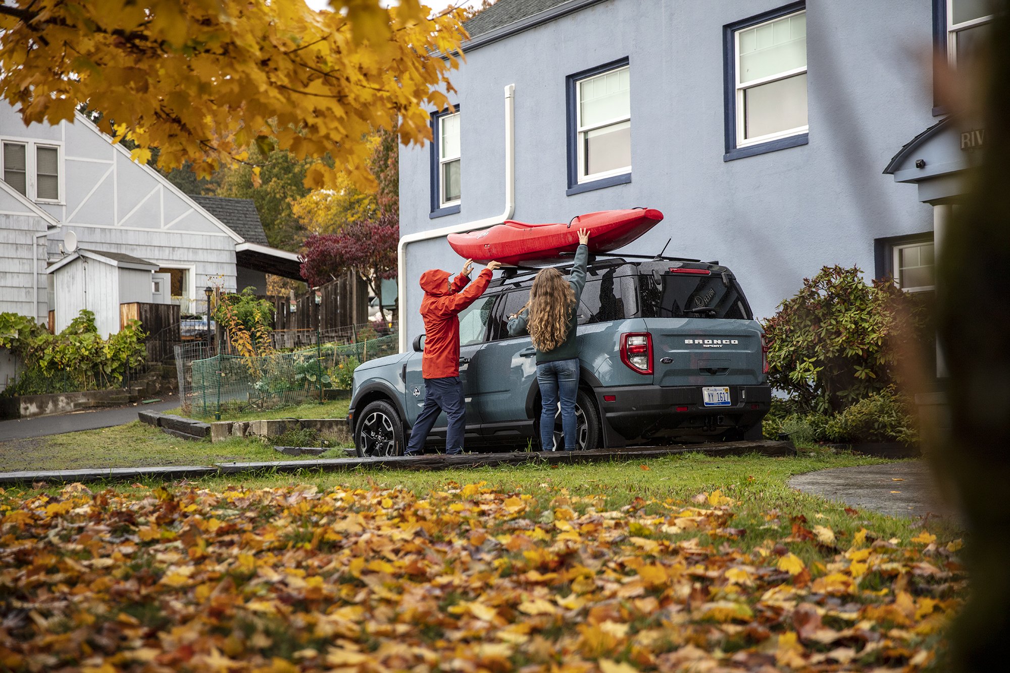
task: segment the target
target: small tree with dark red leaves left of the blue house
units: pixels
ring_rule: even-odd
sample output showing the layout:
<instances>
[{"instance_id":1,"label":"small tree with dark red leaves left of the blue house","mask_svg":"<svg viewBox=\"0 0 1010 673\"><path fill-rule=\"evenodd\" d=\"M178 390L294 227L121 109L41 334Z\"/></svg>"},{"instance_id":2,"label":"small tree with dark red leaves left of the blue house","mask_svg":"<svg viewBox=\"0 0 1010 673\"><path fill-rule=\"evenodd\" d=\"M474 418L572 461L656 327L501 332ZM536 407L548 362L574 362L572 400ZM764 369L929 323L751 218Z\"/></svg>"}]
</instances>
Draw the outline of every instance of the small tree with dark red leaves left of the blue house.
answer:
<instances>
[{"instance_id":1,"label":"small tree with dark red leaves left of the blue house","mask_svg":"<svg viewBox=\"0 0 1010 673\"><path fill-rule=\"evenodd\" d=\"M379 314L385 321L382 281L396 277L399 241L400 222L392 213L347 222L336 233L313 234L306 239L302 253L302 278L315 287L334 280L338 274L355 272L379 299Z\"/></svg>"}]
</instances>

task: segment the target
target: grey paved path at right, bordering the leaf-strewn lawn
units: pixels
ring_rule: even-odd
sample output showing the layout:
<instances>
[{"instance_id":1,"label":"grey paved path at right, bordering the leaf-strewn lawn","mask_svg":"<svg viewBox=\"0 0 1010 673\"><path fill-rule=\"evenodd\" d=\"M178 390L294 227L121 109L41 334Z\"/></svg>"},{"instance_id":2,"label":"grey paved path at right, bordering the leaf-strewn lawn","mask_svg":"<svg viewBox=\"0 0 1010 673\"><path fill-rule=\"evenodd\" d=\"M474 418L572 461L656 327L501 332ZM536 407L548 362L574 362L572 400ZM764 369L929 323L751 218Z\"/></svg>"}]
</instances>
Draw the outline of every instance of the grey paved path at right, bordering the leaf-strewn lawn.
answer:
<instances>
[{"instance_id":1,"label":"grey paved path at right, bordering the leaf-strewn lawn","mask_svg":"<svg viewBox=\"0 0 1010 673\"><path fill-rule=\"evenodd\" d=\"M940 499L929 465L921 460L818 470L796 475L789 485L804 493L841 500L856 509L891 516L952 514L950 506Z\"/></svg>"}]
</instances>

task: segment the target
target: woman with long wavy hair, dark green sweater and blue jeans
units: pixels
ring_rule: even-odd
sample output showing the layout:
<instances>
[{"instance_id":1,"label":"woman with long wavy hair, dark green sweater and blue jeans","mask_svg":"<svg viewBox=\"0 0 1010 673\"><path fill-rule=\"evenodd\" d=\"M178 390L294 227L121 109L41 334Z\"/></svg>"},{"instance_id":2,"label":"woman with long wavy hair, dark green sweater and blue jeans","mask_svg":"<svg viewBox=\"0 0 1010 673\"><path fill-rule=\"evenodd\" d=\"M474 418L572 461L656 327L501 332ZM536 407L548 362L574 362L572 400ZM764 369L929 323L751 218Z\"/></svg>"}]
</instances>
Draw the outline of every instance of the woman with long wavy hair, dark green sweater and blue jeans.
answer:
<instances>
[{"instance_id":1,"label":"woman with long wavy hair, dark green sweater and blue jeans","mask_svg":"<svg viewBox=\"0 0 1010 673\"><path fill-rule=\"evenodd\" d=\"M579 345L576 342L576 325L582 288L586 286L588 243L589 230L579 229L579 248L575 253L575 264L569 280L566 281L552 267L541 270L533 279L529 301L509 316L508 333L512 336L528 333L536 348L542 451L553 450L554 409L558 408L559 397L562 403L565 451L575 451L577 448L575 398L579 392Z\"/></svg>"}]
</instances>

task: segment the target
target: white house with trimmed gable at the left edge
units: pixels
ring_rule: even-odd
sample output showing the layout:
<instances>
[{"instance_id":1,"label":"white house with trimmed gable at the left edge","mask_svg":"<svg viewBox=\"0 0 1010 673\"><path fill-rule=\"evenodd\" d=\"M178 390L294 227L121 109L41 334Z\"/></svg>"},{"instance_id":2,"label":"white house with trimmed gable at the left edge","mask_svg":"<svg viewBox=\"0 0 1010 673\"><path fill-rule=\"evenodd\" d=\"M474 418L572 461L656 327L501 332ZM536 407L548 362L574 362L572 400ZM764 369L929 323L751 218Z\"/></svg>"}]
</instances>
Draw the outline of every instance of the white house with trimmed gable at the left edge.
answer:
<instances>
[{"instance_id":1,"label":"white house with trimmed gable at the left edge","mask_svg":"<svg viewBox=\"0 0 1010 673\"><path fill-rule=\"evenodd\" d=\"M267 244L251 200L184 194L80 113L73 123L25 126L0 103L0 312L44 324L57 303L54 273L76 249L153 264L131 300L179 303L184 313L205 310L207 285L265 293L267 273L300 278L298 256ZM56 324L116 294L91 290L80 306L64 302L69 315Z\"/></svg>"}]
</instances>

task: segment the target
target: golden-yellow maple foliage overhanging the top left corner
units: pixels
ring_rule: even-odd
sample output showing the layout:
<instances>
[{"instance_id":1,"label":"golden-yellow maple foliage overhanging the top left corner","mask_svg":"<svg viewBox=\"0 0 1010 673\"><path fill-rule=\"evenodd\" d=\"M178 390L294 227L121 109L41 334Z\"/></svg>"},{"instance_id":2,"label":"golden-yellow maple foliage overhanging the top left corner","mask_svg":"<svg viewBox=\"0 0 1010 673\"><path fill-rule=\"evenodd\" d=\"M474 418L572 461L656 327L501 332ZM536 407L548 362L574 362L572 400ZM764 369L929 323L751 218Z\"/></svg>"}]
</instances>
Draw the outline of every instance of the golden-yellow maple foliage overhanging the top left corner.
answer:
<instances>
[{"instance_id":1,"label":"golden-yellow maple foliage overhanging the top left corner","mask_svg":"<svg viewBox=\"0 0 1010 673\"><path fill-rule=\"evenodd\" d=\"M430 139L428 109L448 104L462 12L427 18L418 0L12 0L0 3L0 97L25 123L73 120L88 103L99 125L129 138L134 160L160 148L160 169L190 162L206 178L289 151L315 160L310 188L345 171L374 189L378 128ZM443 59L443 55L448 55ZM112 125L115 120L115 126ZM332 163L326 163L329 157Z\"/></svg>"}]
</instances>

